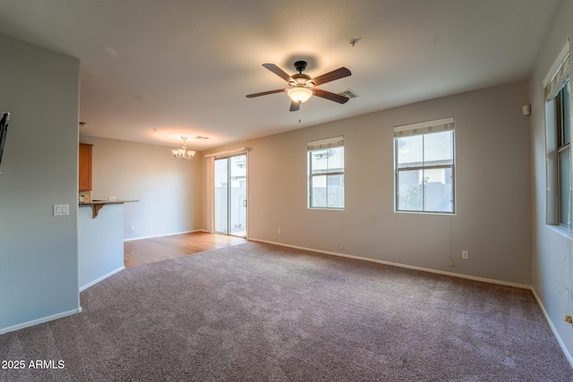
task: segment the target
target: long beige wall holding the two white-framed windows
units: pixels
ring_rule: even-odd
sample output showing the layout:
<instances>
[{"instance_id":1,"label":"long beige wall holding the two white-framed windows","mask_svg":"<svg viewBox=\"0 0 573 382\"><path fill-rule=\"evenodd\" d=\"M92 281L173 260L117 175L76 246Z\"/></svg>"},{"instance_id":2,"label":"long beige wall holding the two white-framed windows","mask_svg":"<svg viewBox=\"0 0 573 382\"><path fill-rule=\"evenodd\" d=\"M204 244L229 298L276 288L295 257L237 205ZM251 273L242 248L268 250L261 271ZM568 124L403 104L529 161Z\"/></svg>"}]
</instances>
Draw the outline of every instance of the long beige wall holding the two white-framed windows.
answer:
<instances>
[{"instance_id":1,"label":"long beige wall holding the two white-framed windows","mask_svg":"<svg viewBox=\"0 0 573 382\"><path fill-rule=\"evenodd\" d=\"M249 238L531 284L527 93L522 81L235 144L250 148ZM393 126L449 116L456 119L456 216L395 213ZM306 142L338 135L346 208L308 209Z\"/></svg>"}]
</instances>

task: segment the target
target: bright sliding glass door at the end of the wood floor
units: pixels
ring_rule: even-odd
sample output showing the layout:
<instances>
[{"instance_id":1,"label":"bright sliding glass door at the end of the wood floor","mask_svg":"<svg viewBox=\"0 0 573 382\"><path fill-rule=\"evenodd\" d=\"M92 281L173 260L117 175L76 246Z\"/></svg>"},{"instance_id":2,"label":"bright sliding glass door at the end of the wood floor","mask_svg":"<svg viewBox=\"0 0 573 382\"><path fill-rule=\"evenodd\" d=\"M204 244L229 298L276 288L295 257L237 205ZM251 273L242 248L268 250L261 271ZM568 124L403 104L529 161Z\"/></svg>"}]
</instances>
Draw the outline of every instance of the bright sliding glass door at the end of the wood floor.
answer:
<instances>
[{"instance_id":1,"label":"bright sliding glass door at the end of the wood floor","mask_svg":"<svg viewBox=\"0 0 573 382\"><path fill-rule=\"evenodd\" d=\"M247 235L247 156L215 159L214 224L216 233Z\"/></svg>"}]
</instances>

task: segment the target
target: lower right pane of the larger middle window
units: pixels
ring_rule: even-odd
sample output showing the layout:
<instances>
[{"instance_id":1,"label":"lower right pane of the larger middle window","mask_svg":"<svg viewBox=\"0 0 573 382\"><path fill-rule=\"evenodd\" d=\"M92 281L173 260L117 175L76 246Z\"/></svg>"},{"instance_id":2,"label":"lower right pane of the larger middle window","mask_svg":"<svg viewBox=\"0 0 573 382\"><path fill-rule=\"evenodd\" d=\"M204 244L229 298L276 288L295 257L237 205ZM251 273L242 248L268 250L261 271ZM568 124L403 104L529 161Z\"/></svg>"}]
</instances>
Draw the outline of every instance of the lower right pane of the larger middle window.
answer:
<instances>
[{"instance_id":1,"label":"lower right pane of the larger middle window","mask_svg":"<svg viewBox=\"0 0 573 382\"><path fill-rule=\"evenodd\" d=\"M426 211L453 212L454 187L451 168L436 168L423 172Z\"/></svg>"}]
</instances>

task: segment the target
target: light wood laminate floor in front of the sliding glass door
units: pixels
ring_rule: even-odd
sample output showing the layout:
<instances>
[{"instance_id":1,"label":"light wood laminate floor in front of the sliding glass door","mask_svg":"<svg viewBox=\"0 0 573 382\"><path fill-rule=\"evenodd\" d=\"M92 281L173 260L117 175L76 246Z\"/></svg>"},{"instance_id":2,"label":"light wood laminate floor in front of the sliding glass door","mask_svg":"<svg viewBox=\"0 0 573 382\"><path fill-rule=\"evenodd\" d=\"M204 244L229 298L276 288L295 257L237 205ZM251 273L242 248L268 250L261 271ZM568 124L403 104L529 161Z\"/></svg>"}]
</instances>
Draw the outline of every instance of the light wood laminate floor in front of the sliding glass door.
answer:
<instances>
[{"instance_id":1,"label":"light wood laminate floor in front of the sliding glass door","mask_svg":"<svg viewBox=\"0 0 573 382\"><path fill-rule=\"evenodd\" d=\"M135 267L246 242L243 237L193 232L124 242L124 266Z\"/></svg>"}]
</instances>

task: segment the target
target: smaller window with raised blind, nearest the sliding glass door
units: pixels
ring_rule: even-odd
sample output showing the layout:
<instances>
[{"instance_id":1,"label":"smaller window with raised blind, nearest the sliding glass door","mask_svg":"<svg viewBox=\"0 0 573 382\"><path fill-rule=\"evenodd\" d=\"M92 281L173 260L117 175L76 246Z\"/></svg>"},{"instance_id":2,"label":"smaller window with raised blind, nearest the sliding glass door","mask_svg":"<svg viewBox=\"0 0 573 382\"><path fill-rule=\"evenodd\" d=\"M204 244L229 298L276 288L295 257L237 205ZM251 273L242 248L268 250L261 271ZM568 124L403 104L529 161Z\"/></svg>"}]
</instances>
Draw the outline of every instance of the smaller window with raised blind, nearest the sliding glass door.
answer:
<instances>
[{"instance_id":1,"label":"smaller window with raised blind, nearest the sliding glass door","mask_svg":"<svg viewBox=\"0 0 573 382\"><path fill-rule=\"evenodd\" d=\"M344 208L344 137L308 142L308 207Z\"/></svg>"}]
</instances>

